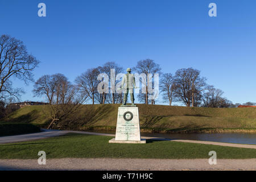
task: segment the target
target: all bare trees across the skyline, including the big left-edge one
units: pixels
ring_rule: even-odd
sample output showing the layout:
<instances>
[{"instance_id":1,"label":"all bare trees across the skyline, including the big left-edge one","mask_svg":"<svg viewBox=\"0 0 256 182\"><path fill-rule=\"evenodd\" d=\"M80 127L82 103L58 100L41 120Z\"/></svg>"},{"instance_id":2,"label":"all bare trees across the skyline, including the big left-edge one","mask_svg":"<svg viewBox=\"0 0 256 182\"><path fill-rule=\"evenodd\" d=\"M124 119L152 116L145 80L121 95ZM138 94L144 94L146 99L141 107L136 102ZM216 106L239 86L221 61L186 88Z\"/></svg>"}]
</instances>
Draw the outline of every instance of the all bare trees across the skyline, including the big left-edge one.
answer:
<instances>
[{"instance_id":1,"label":"all bare trees across the skyline, including the big left-edge one","mask_svg":"<svg viewBox=\"0 0 256 182\"><path fill-rule=\"evenodd\" d=\"M22 41L8 35L0 36L0 100L4 103L10 103L18 99L24 93L24 90L14 88L10 78L16 77L25 83L34 81L32 71L38 64L39 61L27 52ZM113 69L114 73L112 72ZM162 73L160 65L150 59L138 61L132 69L134 73L145 75L151 73L152 80L155 79L154 74L158 73L160 75L160 89L155 92L162 93L163 101L168 102L169 105L172 105L173 102L181 102L192 107L233 107L238 105L234 105L231 101L222 97L222 90L208 85L206 78L201 77L200 71L197 69L179 69L174 75L172 73ZM111 77L111 75L124 72L125 70L118 64L108 62L101 67L87 69L76 78L73 84L60 73L44 75L35 82L33 92L35 96L46 96L50 105L121 103L122 93L113 92L113 88L108 90L110 92L97 92L97 86L102 81L98 80L98 75L105 73L110 78L108 84L115 86L119 80L115 80L115 77ZM146 92L139 93L137 98L141 103L155 104L159 101L159 98L152 97L155 93L150 92L148 85L150 80L148 79L146 77L144 84L141 86ZM153 85L154 87L155 85Z\"/></svg>"}]
</instances>

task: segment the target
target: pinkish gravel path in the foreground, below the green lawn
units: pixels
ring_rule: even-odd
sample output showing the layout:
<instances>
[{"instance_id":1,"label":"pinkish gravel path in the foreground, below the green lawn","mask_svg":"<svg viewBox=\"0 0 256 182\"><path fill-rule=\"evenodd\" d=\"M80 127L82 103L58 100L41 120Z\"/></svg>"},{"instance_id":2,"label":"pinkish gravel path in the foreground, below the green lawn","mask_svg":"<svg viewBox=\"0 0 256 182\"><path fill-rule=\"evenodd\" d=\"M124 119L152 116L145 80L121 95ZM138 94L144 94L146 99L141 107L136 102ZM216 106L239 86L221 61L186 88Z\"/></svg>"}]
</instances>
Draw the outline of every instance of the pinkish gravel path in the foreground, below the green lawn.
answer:
<instances>
[{"instance_id":1,"label":"pinkish gravel path in the foreground, below the green lawn","mask_svg":"<svg viewBox=\"0 0 256 182\"><path fill-rule=\"evenodd\" d=\"M37 159L3 159L0 170L254 170L256 159L47 159L39 165Z\"/></svg>"}]
</instances>

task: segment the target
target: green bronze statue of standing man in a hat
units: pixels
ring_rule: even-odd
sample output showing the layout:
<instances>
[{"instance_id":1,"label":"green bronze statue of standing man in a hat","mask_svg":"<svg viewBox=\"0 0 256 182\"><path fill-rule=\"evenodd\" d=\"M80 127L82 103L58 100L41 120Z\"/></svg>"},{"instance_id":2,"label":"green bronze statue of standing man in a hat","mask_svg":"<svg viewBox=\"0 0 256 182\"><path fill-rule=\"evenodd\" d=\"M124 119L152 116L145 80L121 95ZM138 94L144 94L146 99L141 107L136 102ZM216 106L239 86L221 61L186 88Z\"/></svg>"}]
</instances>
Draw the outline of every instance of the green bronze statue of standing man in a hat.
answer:
<instances>
[{"instance_id":1,"label":"green bronze statue of standing man in a hat","mask_svg":"<svg viewBox=\"0 0 256 182\"><path fill-rule=\"evenodd\" d=\"M124 96L123 96L123 105L126 105L127 102L127 96L128 93L130 92L130 97L131 97L131 105L134 104L134 94L133 94L133 89L137 88L136 82L135 82L135 77L133 74L131 74L131 68L126 69L127 73L123 76L122 78L122 89L124 90ZM123 86L125 84L125 86Z\"/></svg>"}]
</instances>

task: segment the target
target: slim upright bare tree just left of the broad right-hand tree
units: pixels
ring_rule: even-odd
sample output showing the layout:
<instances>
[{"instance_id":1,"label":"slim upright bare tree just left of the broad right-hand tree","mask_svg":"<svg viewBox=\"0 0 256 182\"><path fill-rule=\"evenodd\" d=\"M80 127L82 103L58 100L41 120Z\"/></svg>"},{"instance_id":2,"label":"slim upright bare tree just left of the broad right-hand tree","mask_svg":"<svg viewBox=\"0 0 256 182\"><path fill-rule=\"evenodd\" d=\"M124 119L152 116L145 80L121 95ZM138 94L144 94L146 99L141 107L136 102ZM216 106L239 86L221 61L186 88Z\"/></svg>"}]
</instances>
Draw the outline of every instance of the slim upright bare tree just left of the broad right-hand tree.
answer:
<instances>
[{"instance_id":1,"label":"slim upright bare tree just left of the broad right-hand tree","mask_svg":"<svg viewBox=\"0 0 256 182\"><path fill-rule=\"evenodd\" d=\"M160 89L163 92L164 102L172 105L174 101L175 80L171 73L165 73L160 80Z\"/></svg>"}]
</instances>

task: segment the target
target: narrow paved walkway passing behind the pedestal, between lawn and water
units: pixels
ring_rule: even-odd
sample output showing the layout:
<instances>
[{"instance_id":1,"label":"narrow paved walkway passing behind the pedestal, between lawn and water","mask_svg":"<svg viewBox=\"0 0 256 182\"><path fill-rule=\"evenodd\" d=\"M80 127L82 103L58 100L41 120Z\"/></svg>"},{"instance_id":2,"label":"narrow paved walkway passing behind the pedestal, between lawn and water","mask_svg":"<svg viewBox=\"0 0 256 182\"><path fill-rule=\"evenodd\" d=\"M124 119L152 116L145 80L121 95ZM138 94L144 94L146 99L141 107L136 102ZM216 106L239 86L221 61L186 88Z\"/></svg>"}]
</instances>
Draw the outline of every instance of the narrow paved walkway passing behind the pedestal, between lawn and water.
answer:
<instances>
[{"instance_id":1,"label":"narrow paved walkway passing behind the pedestal, between lawn and water","mask_svg":"<svg viewBox=\"0 0 256 182\"><path fill-rule=\"evenodd\" d=\"M30 140L37 140L49 137L57 137L60 135L64 135L67 133L79 133L79 134L89 134L89 135L103 135L115 137L114 134L104 134L104 133L93 133L87 131L61 131L61 130L42 130L40 133L32 133L25 135L14 135L9 137L0 137L0 144L3 143L14 143L14 142L24 142ZM208 141L200 141L200 140L181 140L181 139L167 139L167 138L157 138L157 137L141 137L142 139L152 139L152 140L171 140L175 142L187 142L187 143L201 143L201 144L214 144L218 146L228 146L228 147L240 147L240 148L254 148L256 149L255 144L236 144L236 143L222 143L222 142L208 142Z\"/></svg>"}]
</instances>

